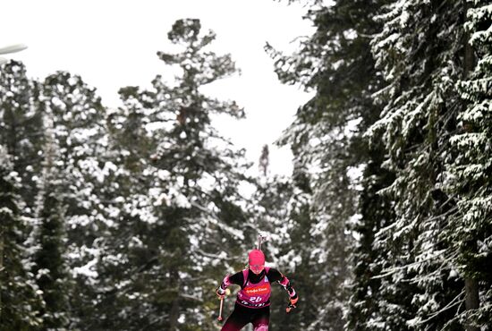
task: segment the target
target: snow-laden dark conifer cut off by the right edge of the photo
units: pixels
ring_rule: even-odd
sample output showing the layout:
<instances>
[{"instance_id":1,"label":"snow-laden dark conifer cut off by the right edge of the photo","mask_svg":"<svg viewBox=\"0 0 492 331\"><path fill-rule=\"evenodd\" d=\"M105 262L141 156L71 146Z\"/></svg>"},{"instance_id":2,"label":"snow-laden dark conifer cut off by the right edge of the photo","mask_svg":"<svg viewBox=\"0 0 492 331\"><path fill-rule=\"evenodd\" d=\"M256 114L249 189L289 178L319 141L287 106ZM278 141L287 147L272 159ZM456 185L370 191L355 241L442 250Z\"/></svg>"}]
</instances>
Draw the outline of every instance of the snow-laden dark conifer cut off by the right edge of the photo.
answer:
<instances>
[{"instance_id":1,"label":"snow-laden dark conifer cut off by the right edge of the photo","mask_svg":"<svg viewBox=\"0 0 492 331\"><path fill-rule=\"evenodd\" d=\"M492 320L492 4L468 1L463 76L456 88L464 101L451 137L445 191L457 211L445 229L454 267L465 279L467 330L488 330Z\"/></svg>"}]
</instances>

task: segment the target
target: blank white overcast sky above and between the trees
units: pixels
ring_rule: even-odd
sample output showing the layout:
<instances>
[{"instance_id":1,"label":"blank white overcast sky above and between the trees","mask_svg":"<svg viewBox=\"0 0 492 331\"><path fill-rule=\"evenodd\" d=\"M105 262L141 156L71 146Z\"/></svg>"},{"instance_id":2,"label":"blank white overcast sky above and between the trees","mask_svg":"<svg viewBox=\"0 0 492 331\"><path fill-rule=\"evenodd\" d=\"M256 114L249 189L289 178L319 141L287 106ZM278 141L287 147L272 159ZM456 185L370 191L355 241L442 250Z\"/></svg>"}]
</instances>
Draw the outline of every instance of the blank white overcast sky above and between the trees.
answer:
<instances>
[{"instance_id":1,"label":"blank white overcast sky above and between the trees","mask_svg":"<svg viewBox=\"0 0 492 331\"><path fill-rule=\"evenodd\" d=\"M294 38L312 32L306 8L274 0L0 0L0 47L24 43L28 49L6 55L21 60L31 77L58 70L80 74L106 106L119 106L117 90L147 87L165 64L157 51L169 49L167 32L177 19L198 18L214 30L217 53L231 53L242 75L212 84L210 94L233 99L247 119L220 120L216 127L257 163L270 145L271 171L290 174L288 149L272 142L293 122L310 95L276 79L265 42L292 51ZM258 165L252 170L256 174Z\"/></svg>"}]
</instances>

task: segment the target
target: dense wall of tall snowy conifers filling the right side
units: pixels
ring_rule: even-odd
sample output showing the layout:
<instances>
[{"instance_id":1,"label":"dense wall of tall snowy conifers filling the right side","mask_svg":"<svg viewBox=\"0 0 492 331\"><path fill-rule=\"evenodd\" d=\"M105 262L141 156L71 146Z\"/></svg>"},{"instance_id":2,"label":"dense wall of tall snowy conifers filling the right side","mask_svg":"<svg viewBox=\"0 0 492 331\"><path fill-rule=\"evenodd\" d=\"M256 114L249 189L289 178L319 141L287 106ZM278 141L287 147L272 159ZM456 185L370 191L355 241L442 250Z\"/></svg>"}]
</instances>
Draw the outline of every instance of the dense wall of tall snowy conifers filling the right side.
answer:
<instances>
[{"instance_id":1,"label":"dense wall of tall snowy conifers filling the right side","mask_svg":"<svg viewBox=\"0 0 492 331\"><path fill-rule=\"evenodd\" d=\"M352 257L351 275L325 287L325 324L306 326L489 329L490 2L304 4L316 31L299 51L267 45L282 81L316 92L279 142L293 147L293 178L310 174L313 221L336 236L313 245ZM324 262L316 282L339 270Z\"/></svg>"}]
</instances>

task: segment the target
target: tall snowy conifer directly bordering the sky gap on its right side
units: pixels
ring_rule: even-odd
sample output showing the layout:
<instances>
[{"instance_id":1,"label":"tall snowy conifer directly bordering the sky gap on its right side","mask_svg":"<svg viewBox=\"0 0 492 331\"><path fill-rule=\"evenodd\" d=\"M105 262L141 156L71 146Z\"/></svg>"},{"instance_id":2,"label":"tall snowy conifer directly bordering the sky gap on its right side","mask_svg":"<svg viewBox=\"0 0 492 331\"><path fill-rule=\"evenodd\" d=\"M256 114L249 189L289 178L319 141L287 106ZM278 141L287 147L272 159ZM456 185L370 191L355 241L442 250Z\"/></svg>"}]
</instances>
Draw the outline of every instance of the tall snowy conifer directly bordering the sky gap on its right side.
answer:
<instances>
[{"instance_id":1,"label":"tall snowy conifer directly bordering the sky gap on its right side","mask_svg":"<svg viewBox=\"0 0 492 331\"><path fill-rule=\"evenodd\" d=\"M311 258L325 266L317 275L325 284L324 302L318 304L318 318L309 327L341 330L349 300L346 284L351 278L346 257L353 238L347 230L354 230L353 221L358 218L357 183L361 168L369 162L362 133L379 114L371 99L380 78L369 37L377 31L372 18L382 2L313 3L306 17L317 30L301 43L300 51L282 56L271 47L267 50L276 59L282 81L316 91L280 141L293 147L294 181L305 182L313 192L311 220L318 223L312 227L313 235L322 233L327 238L321 240L321 247L313 242L305 248L315 251Z\"/></svg>"}]
</instances>

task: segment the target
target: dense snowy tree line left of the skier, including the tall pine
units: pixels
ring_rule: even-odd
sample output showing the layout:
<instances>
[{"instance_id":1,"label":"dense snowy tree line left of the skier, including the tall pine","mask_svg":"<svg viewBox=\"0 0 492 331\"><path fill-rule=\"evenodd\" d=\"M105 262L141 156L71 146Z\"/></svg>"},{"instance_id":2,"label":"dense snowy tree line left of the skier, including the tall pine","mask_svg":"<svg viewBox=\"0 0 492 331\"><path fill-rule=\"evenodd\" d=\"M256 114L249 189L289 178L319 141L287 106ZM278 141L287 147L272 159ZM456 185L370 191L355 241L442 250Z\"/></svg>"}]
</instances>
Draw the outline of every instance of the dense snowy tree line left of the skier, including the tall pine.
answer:
<instances>
[{"instance_id":1,"label":"dense snowy tree line left of the skier, including the tall pine","mask_svg":"<svg viewBox=\"0 0 492 331\"><path fill-rule=\"evenodd\" d=\"M248 166L211 125L241 119L201 87L233 74L198 20L174 23L181 77L123 87L108 109L81 77L0 72L2 330L216 328L214 289L258 232Z\"/></svg>"}]
</instances>

